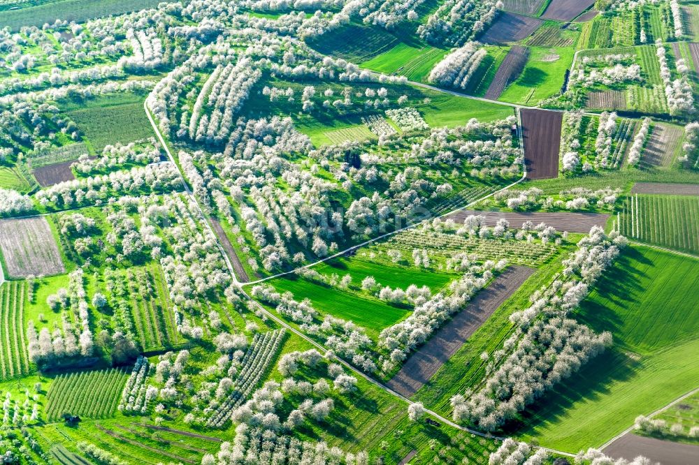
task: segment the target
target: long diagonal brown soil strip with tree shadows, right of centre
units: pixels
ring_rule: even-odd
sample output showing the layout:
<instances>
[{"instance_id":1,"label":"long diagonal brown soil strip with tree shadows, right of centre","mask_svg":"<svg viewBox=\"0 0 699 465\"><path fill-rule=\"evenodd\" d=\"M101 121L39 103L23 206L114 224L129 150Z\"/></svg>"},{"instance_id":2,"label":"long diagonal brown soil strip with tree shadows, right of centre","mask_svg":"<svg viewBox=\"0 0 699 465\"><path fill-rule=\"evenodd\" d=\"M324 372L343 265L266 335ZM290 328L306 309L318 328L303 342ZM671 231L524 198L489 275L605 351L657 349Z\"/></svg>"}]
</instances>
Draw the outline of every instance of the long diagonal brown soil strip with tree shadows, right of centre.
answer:
<instances>
[{"instance_id":1,"label":"long diagonal brown soil strip with tree shadows, right of centre","mask_svg":"<svg viewBox=\"0 0 699 465\"><path fill-rule=\"evenodd\" d=\"M466 309L456 313L424 346L410 355L401 371L386 385L405 397L415 394L533 272L532 268L517 265L507 268L481 290Z\"/></svg>"}]
</instances>

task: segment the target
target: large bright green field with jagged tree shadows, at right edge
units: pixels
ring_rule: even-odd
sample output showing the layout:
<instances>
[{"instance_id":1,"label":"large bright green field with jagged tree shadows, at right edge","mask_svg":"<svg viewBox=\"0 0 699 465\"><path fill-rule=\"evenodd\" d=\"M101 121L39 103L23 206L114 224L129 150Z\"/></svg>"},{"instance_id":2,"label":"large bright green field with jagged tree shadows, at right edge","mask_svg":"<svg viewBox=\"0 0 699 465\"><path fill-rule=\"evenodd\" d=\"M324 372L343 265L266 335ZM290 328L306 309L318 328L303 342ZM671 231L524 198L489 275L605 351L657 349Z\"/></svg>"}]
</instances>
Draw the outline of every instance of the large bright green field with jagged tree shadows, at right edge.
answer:
<instances>
[{"instance_id":1,"label":"large bright green field with jagged tree shadows, at right edge","mask_svg":"<svg viewBox=\"0 0 699 465\"><path fill-rule=\"evenodd\" d=\"M610 331L614 348L528 409L522 438L577 452L599 446L696 388L699 260L626 249L575 317Z\"/></svg>"}]
</instances>

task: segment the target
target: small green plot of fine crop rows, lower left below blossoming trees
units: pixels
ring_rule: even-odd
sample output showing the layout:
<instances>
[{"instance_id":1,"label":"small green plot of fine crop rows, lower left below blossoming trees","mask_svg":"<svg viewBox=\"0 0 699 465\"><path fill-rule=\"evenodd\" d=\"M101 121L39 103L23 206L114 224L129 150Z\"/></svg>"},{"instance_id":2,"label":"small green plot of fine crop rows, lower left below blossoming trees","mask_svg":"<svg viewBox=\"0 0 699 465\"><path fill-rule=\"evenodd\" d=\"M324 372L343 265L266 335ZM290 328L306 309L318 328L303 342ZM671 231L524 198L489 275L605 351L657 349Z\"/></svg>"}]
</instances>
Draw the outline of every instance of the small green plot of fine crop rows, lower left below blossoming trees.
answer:
<instances>
[{"instance_id":1,"label":"small green plot of fine crop rows, lower left below blossoming trees","mask_svg":"<svg viewBox=\"0 0 699 465\"><path fill-rule=\"evenodd\" d=\"M57 420L64 413L85 418L113 415L124 387L122 369L104 369L59 375L46 394L46 419Z\"/></svg>"}]
</instances>

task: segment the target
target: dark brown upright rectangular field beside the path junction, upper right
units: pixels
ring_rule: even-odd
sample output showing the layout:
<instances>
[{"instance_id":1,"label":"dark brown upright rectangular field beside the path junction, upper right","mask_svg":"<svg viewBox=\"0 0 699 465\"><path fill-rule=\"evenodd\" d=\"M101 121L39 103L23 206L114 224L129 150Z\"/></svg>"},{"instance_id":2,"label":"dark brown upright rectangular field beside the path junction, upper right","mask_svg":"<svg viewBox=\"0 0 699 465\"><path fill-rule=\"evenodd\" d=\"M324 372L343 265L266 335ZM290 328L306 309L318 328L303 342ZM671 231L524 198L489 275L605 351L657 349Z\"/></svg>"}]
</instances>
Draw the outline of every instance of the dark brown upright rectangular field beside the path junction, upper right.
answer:
<instances>
[{"instance_id":1,"label":"dark brown upright rectangular field beside the path junction, upper right","mask_svg":"<svg viewBox=\"0 0 699 465\"><path fill-rule=\"evenodd\" d=\"M527 179L558 177L563 113L523 108L521 120Z\"/></svg>"}]
</instances>

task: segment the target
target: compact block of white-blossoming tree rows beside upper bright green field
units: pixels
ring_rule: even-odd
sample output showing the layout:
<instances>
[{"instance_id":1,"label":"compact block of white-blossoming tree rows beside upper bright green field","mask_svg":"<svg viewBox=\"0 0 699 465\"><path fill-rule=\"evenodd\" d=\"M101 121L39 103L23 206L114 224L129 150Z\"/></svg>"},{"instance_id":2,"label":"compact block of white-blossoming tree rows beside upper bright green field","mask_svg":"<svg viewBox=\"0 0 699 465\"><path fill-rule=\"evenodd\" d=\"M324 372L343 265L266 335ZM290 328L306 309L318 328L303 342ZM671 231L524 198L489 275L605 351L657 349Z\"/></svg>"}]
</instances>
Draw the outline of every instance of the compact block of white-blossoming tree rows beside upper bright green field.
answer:
<instances>
[{"instance_id":1,"label":"compact block of white-blossoming tree rows beside upper bright green field","mask_svg":"<svg viewBox=\"0 0 699 465\"><path fill-rule=\"evenodd\" d=\"M466 89L488 52L477 42L468 42L435 64L428 80L447 87Z\"/></svg>"}]
</instances>

